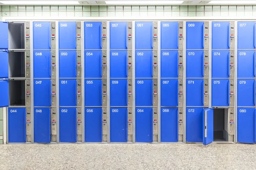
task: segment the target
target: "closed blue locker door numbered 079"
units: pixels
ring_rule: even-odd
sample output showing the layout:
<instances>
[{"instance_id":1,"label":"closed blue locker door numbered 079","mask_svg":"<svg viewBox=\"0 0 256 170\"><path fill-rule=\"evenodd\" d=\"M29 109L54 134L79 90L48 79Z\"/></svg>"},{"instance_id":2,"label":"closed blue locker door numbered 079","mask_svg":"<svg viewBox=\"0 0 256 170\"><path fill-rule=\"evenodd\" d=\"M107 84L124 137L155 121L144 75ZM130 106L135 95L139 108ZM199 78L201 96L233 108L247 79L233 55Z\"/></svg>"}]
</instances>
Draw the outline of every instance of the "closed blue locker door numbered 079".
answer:
<instances>
[{"instance_id":1,"label":"closed blue locker door numbered 079","mask_svg":"<svg viewBox=\"0 0 256 170\"><path fill-rule=\"evenodd\" d=\"M237 106L255 106L255 79L237 79Z\"/></svg>"}]
</instances>

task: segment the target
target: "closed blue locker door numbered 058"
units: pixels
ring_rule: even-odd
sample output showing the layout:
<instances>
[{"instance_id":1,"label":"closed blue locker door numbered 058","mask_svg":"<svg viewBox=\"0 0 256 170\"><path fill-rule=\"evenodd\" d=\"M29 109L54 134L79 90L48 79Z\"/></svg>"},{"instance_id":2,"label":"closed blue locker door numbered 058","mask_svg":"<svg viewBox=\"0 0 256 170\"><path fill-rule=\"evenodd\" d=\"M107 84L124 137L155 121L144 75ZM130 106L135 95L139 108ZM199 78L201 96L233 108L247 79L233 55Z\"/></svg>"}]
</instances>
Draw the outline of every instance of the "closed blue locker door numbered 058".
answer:
<instances>
[{"instance_id":1,"label":"closed blue locker door numbered 058","mask_svg":"<svg viewBox=\"0 0 256 170\"><path fill-rule=\"evenodd\" d=\"M110 77L127 77L127 51L110 51Z\"/></svg>"}]
</instances>

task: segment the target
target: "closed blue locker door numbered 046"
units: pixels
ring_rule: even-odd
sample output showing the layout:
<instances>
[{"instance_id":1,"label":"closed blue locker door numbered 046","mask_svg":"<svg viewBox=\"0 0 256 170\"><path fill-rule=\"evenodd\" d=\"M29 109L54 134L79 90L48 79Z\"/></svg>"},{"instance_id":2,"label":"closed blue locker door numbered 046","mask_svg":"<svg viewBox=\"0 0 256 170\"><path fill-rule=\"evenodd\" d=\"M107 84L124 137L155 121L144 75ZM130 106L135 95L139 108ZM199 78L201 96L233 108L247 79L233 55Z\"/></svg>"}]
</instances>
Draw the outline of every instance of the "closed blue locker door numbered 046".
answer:
<instances>
[{"instance_id":1,"label":"closed blue locker door numbered 046","mask_svg":"<svg viewBox=\"0 0 256 170\"><path fill-rule=\"evenodd\" d=\"M34 78L51 78L51 51L34 51L33 57Z\"/></svg>"}]
</instances>

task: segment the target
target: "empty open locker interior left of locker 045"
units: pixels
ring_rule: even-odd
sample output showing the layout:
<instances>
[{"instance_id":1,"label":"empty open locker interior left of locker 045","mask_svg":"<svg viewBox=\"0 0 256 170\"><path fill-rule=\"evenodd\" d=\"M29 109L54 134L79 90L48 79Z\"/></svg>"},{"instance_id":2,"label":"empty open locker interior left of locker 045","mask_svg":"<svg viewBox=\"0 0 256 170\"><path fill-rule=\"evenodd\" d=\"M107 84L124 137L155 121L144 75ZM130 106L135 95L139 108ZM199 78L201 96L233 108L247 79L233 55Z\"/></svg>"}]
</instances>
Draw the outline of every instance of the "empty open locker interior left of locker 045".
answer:
<instances>
[{"instance_id":1,"label":"empty open locker interior left of locker 045","mask_svg":"<svg viewBox=\"0 0 256 170\"><path fill-rule=\"evenodd\" d=\"M25 23L9 23L9 49L25 49Z\"/></svg>"}]
</instances>

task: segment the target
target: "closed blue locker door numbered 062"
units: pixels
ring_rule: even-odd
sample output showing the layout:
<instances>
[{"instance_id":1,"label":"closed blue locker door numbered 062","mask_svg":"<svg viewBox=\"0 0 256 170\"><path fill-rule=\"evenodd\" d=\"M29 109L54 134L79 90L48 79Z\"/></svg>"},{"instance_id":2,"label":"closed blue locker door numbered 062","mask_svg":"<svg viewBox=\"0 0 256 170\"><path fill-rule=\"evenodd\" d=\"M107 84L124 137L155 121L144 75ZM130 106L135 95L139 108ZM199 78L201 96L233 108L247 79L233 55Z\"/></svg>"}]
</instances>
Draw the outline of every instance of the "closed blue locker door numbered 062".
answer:
<instances>
[{"instance_id":1,"label":"closed blue locker door numbered 062","mask_svg":"<svg viewBox=\"0 0 256 170\"><path fill-rule=\"evenodd\" d=\"M135 51L135 77L151 78L153 77L153 52Z\"/></svg>"}]
</instances>

